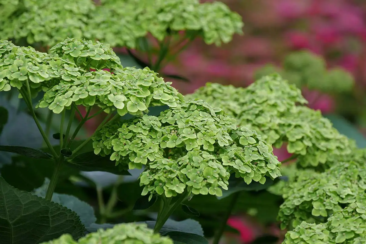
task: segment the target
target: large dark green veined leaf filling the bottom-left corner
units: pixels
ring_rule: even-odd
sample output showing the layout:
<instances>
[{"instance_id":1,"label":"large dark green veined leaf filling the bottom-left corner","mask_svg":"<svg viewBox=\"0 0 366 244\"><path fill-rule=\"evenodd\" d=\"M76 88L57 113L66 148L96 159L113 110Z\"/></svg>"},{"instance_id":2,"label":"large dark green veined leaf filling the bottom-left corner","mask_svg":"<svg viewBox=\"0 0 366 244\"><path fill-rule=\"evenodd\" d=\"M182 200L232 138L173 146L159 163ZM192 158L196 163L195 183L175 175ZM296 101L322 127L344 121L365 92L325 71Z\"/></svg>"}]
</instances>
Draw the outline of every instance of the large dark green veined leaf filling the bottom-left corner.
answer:
<instances>
[{"instance_id":1,"label":"large dark green veined leaf filling the bottom-left corner","mask_svg":"<svg viewBox=\"0 0 366 244\"><path fill-rule=\"evenodd\" d=\"M0 177L0 240L4 244L38 244L70 233L85 232L79 216L29 192L20 191Z\"/></svg>"}]
</instances>

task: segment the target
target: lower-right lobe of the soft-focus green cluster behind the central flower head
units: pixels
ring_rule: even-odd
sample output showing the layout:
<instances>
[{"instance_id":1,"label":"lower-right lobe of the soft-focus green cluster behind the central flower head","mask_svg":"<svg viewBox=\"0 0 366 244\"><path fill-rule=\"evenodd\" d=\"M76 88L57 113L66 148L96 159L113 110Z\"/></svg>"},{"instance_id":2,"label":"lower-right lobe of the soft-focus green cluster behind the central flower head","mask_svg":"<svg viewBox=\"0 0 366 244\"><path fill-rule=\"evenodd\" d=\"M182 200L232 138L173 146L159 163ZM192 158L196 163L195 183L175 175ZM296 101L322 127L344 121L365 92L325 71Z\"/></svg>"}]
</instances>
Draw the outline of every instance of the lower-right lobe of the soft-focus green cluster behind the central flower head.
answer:
<instances>
[{"instance_id":1,"label":"lower-right lobe of the soft-focus green cluster behind the central flower head","mask_svg":"<svg viewBox=\"0 0 366 244\"><path fill-rule=\"evenodd\" d=\"M320 111L298 106L281 121L282 140L287 151L297 154L302 167L328 167L356 149L355 142L342 135ZM324 165L326 164L326 165Z\"/></svg>"}]
</instances>

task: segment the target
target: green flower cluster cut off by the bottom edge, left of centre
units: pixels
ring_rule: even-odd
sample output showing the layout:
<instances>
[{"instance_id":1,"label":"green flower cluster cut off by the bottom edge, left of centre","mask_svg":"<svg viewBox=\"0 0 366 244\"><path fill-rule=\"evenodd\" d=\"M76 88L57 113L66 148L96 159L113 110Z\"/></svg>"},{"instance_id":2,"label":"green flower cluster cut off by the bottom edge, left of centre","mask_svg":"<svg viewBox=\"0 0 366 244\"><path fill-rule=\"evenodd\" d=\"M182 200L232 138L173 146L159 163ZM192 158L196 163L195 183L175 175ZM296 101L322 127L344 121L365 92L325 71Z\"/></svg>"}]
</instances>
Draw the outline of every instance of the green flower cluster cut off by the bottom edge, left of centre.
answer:
<instances>
[{"instance_id":1,"label":"green flower cluster cut off by the bottom edge, left of centre","mask_svg":"<svg viewBox=\"0 0 366 244\"><path fill-rule=\"evenodd\" d=\"M74 241L70 234L63 234L59 239L42 244L173 244L169 237L154 234L146 224L118 224L111 229L100 229Z\"/></svg>"}]
</instances>

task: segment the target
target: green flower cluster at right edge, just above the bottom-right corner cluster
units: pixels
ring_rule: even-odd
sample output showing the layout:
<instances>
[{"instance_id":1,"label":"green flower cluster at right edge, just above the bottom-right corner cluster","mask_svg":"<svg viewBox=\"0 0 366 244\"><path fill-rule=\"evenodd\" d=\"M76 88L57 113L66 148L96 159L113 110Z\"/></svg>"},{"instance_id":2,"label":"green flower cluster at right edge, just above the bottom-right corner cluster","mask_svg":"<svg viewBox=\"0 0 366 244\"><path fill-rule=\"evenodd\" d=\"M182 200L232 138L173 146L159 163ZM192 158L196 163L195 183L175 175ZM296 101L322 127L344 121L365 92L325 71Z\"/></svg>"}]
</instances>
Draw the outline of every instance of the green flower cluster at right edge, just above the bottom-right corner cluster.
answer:
<instances>
[{"instance_id":1,"label":"green flower cluster at right edge, just above the bottom-right corner cluster","mask_svg":"<svg viewBox=\"0 0 366 244\"><path fill-rule=\"evenodd\" d=\"M364 163L339 163L323 173L304 172L286 187L278 218L285 227L292 222L321 223L345 206L356 204L365 213L366 168ZM353 206L353 205L352 205Z\"/></svg>"}]
</instances>

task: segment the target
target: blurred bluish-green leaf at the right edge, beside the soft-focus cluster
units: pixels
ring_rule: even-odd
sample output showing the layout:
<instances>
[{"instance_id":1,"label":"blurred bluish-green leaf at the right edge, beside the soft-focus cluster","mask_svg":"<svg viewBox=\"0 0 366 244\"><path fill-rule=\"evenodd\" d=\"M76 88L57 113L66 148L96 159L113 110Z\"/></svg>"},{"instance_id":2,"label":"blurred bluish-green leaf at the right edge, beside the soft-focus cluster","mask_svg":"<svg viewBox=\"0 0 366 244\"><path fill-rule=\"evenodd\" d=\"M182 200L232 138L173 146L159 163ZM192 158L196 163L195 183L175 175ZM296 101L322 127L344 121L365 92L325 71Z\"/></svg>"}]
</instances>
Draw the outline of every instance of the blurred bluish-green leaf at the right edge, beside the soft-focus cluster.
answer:
<instances>
[{"instance_id":1,"label":"blurred bluish-green leaf at the right edge, beside the soft-focus cluster","mask_svg":"<svg viewBox=\"0 0 366 244\"><path fill-rule=\"evenodd\" d=\"M347 136L350 139L354 139L356 144L360 148L366 147L366 138L361 132L350 122L339 115L324 115L333 123L333 127L336 128L341 134Z\"/></svg>"}]
</instances>

